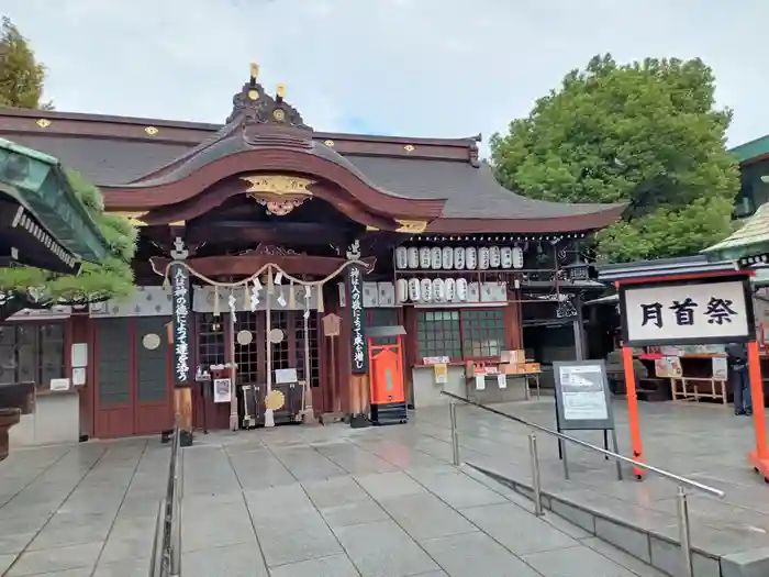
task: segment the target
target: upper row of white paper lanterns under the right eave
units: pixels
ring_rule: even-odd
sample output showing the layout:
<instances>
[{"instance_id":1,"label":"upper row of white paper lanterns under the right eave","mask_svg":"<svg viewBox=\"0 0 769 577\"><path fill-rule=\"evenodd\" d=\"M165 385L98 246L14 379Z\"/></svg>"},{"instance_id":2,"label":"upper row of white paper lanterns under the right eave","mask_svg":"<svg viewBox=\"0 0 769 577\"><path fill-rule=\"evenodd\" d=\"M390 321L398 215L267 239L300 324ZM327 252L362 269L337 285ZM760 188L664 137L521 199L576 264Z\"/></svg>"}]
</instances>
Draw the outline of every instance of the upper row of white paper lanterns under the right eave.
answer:
<instances>
[{"instance_id":1,"label":"upper row of white paper lanterns under the right eave","mask_svg":"<svg viewBox=\"0 0 769 577\"><path fill-rule=\"evenodd\" d=\"M399 269L462 270L488 268L523 268L523 249L520 246L399 246L395 249Z\"/></svg>"}]
</instances>

